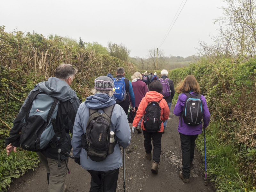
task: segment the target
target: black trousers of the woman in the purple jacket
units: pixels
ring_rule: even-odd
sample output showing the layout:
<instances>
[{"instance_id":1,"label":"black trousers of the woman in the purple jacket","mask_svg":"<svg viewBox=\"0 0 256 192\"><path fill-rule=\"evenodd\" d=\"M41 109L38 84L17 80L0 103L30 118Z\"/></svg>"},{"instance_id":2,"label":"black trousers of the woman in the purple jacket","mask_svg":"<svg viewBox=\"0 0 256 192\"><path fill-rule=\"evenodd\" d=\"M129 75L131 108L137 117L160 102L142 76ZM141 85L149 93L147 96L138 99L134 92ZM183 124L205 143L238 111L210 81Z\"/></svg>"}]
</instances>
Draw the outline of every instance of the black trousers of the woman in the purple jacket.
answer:
<instances>
[{"instance_id":1,"label":"black trousers of the woman in the purple jacket","mask_svg":"<svg viewBox=\"0 0 256 192\"><path fill-rule=\"evenodd\" d=\"M195 157L195 140L198 135L184 135L180 133L180 144L182 151L182 173L184 177L190 176L190 164Z\"/></svg>"}]
</instances>

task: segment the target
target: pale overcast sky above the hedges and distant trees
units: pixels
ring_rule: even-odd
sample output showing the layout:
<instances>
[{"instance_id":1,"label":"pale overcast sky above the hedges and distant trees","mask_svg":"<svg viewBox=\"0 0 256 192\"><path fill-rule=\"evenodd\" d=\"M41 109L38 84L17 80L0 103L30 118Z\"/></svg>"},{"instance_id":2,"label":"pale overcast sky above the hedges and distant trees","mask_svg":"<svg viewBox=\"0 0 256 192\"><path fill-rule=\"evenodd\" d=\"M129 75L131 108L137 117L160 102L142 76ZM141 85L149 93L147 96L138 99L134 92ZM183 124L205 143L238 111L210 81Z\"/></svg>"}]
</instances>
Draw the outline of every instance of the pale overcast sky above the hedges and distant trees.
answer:
<instances>
[{"instance_id":1,"label":"pale overcast sky above the hedges and distant trees","mask_svg":"<svg viewBox=\"0 0 256 192\"><path fill-rule=\"evenodd\" d=\"M1 0L0 26L70 36L107 46L125 44L130 56L146 57L159 48L181 3L186 0ZM221 0L187 0L169 35L160 47L166 56L187 57L197 53L199 40L212 44L222 16ZM181 9L180 7L180 9ZM177 17L176 15L176 17ZM175 17L175 19L176 19Z\"/></svg>"}]
</instances>

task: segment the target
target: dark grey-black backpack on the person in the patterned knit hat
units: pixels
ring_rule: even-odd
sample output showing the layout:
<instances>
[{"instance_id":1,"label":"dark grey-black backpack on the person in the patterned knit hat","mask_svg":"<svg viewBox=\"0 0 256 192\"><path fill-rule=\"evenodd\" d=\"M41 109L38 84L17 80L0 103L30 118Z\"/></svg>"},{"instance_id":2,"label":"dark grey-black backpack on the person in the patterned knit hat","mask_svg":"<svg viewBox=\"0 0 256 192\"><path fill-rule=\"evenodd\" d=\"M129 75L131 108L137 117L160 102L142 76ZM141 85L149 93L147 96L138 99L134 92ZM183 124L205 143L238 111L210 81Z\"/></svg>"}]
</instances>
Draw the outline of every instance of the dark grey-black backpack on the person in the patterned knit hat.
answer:
<instances>
[{"instance_id":1,"label":"dark grey-black backpack on the person in the patterned knit hat","mask_svg":"<svg viewBox=\"0 0 256 192\"><path fill-rule=\"evenodd\" d=\"M82 147L86 150L87 156L92 161L103 161L107 158L110 139L110 119L114 105L99 109L89 108L89 119L87 121L86 132L82 135ZM115 141L116 145L116 141Z\"/></svg>"}]
</instances>

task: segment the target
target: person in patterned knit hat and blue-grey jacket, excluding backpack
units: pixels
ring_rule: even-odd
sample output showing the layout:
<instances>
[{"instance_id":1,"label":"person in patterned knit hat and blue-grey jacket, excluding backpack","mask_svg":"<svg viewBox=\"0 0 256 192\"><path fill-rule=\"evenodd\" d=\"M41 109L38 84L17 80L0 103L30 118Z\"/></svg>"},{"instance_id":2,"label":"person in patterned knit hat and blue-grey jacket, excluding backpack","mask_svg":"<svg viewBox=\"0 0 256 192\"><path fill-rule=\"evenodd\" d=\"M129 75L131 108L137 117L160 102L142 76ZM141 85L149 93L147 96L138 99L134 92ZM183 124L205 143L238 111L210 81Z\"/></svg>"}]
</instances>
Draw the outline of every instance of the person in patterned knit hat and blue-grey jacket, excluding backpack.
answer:
<instances>
[{"instance_id":1,"label":"person in patterned knit hat and blue-grey jacket, excluding backpack","mask_svg":"<svg viewBox=\"0 0 256 192\"><path fill-rule=\"evenodd\" d=\"M94 80L94 89L78 108L73 127L72 147L76 163L86 169L92 176L90 192L116 191L119 167L122 166L122 154L120 145L126 148L130 144L131 129L123 108L116 104L114 94L114 82L107 76L100 76ZM110 119L110 131L115 132L116 145L114 152L108 154L106 159L100 162L92 161L87 152L82 148L82 135L86 133L89 119L89 108L98 109L98 113L104 113L103 108L115 105Z\"/></svg>"}]
</instances>

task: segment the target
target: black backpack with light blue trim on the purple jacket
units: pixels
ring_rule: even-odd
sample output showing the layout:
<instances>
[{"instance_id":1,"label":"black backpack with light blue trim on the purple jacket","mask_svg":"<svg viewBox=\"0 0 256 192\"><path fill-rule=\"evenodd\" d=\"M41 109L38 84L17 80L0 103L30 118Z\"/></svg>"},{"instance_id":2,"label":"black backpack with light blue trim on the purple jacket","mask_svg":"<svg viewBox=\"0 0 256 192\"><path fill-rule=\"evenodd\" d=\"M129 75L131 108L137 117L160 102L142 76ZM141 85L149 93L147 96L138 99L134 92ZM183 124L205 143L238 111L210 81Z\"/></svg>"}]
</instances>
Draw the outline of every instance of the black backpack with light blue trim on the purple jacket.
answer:
<instances>
[{"instance_id":1,"label":"black backpack with light blue trim on the purple jacket","mask_svg":"<svg viewBox=\"0 0 256 192\"><path fill-rule=\"evenodd\" d=\"M184 93L187 96L185 100L182 116L184 123L188 125L200 125L203 117L203 102L201 94L197 93ZM180 125L181 125L180 121Z\"/></svg>"}]
</instances>

